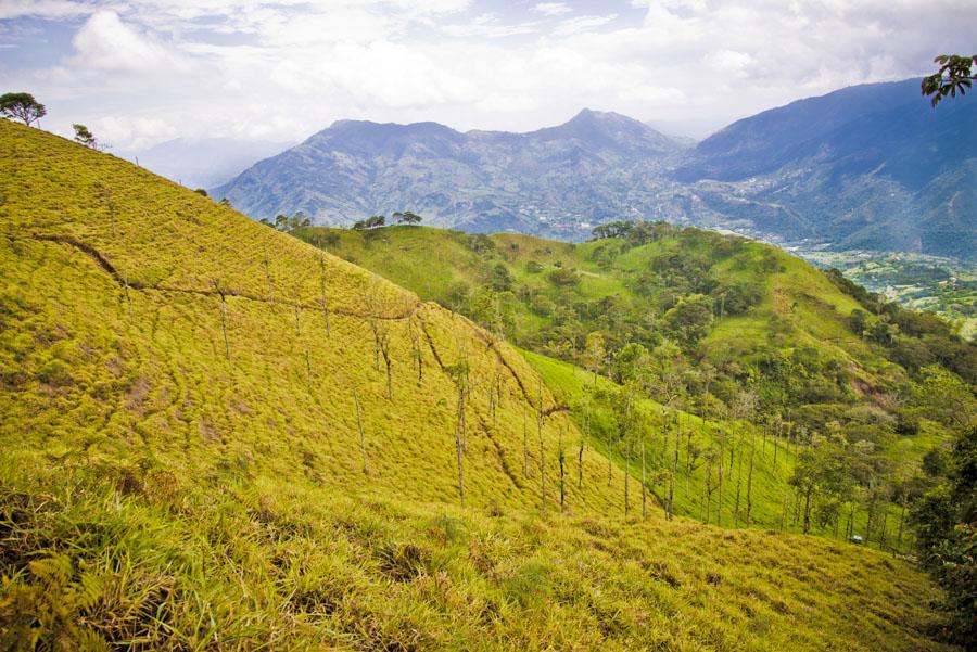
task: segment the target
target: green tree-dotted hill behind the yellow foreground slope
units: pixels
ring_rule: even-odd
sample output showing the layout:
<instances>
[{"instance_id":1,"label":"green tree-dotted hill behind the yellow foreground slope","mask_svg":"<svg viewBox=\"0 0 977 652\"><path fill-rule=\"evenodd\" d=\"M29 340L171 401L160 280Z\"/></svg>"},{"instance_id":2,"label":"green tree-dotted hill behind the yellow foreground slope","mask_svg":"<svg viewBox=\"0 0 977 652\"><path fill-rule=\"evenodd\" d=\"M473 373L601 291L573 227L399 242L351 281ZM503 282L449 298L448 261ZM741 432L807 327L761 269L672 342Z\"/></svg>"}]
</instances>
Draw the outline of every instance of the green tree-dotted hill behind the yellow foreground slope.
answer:
<instances>
[{"instance_id":1,"label":"green tree-dotted hill behind the yellow foreground slope","mask_svg":"<svg viewBox=\"0 0 977 652\"><path fill-rule=\"evenodd\" d=\"M912 549L904 508L931 483L924 458L959 425L929 387L949 368L961 413L973 414L977 348L767 245L663 223L612 227L582 244L421 227L294 233L525 349L640 385L622 433L621 387L588 392L574 380L582 369L525 354L619 468L637 474L645 446L658 502L668 496L676 513L743 526L749 503L754 525L874 532L876 545ZM853 311L865 312L864 333ZM799 456L823 451L850 482L815 499L805 525L791 478Z\"/></svg>"}]
</instances>

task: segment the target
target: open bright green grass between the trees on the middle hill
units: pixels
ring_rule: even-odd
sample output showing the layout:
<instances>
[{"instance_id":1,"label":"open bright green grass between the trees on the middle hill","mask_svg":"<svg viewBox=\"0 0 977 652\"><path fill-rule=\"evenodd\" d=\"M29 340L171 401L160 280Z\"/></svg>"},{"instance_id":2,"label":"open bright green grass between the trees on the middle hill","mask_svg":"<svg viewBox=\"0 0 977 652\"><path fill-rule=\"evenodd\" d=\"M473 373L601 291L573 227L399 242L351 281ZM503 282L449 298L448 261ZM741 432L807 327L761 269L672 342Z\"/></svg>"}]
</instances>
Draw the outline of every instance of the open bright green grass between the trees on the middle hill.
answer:
<instances>
[{"instance_id":1,"label":"open bright green grass between the trees on the middle hill","mask_svg":"<svg viewBox=\"0 0 977 652\"><path fill-rule=\"evenodd\" d=\"M337 255L382 273L426 299L439 299L448 304L449 299L446 297L454 285L462 283L469 287L484 286L491 280L491 269L500 264L509 270L517 283L550 296L558 304L587 302L596 305L601 299L613 297L634 312L654 312L658 309L654 301L633 290L635 276L647 270L655 256L677 246L674 238L665 238L617 253L610 266L601 267L595 261L595 253L600 247L618 247L620 243L611 240L570 244L530 235L499 233L488 236L491 248L484 248L482 243L483 248L479 252L465 233L426 227L388 227L365 232L316 227L297 234L303 240L325 246ZM703 255L709 253L709 247L715 246L706 236L694 238L689 242L686 245L691 246L693 252ZM436 255L432 255L432 252L436 252ZM526 265L530 261L540 264L543 271L529 271ZM557 264L576 269L582 274L580 285L572 291L555 289L547 280L547 272L556 269ZM769 245L740 242L731 246L727 255L720 257L711 268L710 276L724 281L761 279L765 289L758 305L745 315L725 316L716 320L703 340L701 350L714 366L751 361L758 351L771 348L788 353L808 348L816 351L824 360L837 361L861 387L888 386L893 379L904 378L901 368L889 362L877 348L849 330L848 316L858 307L857 302L800 258ZM606 455L606 433L613 430L613 416L606 406L595 408L593 413L586 414L583 387L586 373L541 355L541 351L546 350L546 345L536 337L554 325L555 317L534 314L525 302L518 302L515 311L516 330L531 345L535 345L534 350L525 348L521 351L522 355L541 374L558 401L573 406L571 416L579 429L586 430L588 421L593 422L594 430L602 429L602 434L591 438L591 448ZM588 325L595 330L602 328L596 320ZM598 386L609 389L614 385L600 379ZM855 393L852 393L851 400L852 405L871 402ZM665 473L674 463L675 437L680 430L676 419L681 413L683 444L680 447L680 482L674 494L676 513L706 520L703 496L708 468L701 457L687 464L688 444L690 442L694 447L706 450L718 448L719 440L723 439L727 456L724 461L727 476L722 502L723 524L743 525L749 457L751 450L756 449L751 521L762 527L802 530L802 524L796 516L796 495L788 485L797 457L796 444L790 446L791 453L787 457L783 440L775 443L770 433L763 433L750 423L719 418L703 421L700 417L665 409L650 400L638 402L638 411L644 417L643 429L646 431L640 439L646 445L649 469L655 473ZM691 439L688 438L689 432ZM892 449L887 451L889 459L899 459L893 477L911 477L918 470L923 456L948 439L948 434L931 422L927 422L926 432L928 434L925 436L899 438ZM639 446L635 443L631 462L632 474L637 478ZM728 458L731 449L734 451L732 466ZM623 472L627 463L624 451L619 450L617 444L611 449L611 458L614 471ZM785 460L788 461L785 463ZM690 468L688 495L684 477L687 465ZM738 516L737 483L740 485ZM661 483L658 483L657 491L662 499L664 490ZM719 516L718 499L718 491L709 499L709 513L712 514L709 519L713 523ZM894 533L899 529L900 517L901 509L889 506L887 524L892 530L892 539L897 538ZM864 533L867 521L865 509L859 507L853 515L853 530ZM842 522L840 536L843 536L845 525ZM833 525L815 526L813 532L822 536L837 536ZM899 542L900 550L912 550L912 542L911 533L904 532Z\"/></svg>"}]
</instances>

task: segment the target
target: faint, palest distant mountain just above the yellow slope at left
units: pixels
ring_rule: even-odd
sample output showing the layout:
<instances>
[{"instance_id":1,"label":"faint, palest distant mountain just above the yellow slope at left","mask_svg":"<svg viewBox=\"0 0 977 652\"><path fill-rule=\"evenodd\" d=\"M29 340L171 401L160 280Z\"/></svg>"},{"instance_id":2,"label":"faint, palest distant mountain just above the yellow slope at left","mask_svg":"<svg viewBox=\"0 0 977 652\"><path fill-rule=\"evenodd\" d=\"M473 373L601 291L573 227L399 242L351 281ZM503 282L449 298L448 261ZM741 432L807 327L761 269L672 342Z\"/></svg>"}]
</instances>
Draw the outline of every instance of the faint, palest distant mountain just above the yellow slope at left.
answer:
<instances>
[{"instance_id":1,"label":"faint, palest distant mountain just above the yellow slope at left","mask_svg":"<svg viewBox=\"0 0 977 652\"><path fill-rule=\"evenodd\" d=\"M290 144L230 138L177 138L147 150L118 152L118 156L131 162L138 158L142 167L188 188L211 188Z\"/></svg>"}]
</instances>

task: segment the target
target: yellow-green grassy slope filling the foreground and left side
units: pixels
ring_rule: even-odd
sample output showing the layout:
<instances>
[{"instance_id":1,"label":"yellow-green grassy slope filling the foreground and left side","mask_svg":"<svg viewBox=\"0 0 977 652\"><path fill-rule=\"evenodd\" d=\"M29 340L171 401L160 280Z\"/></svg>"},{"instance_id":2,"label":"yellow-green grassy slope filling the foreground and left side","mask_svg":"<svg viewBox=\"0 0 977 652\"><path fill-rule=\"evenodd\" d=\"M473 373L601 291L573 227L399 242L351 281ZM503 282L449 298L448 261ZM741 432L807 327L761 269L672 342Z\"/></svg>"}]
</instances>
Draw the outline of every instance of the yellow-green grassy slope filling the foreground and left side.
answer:
<instances>
[{"instance_id":1,"label":"yellow-green grassy slope filling the foreground and left side","mask_svg":"<svg viewBox=\"0 0 977 652\"><path fill-rule=\"evenodd\" d=\"M519 381L535 384L521 356L144 170L0 122L0 229L4 648L936 648L935 590L906 564L624 520L622 477L608 487L594 451L558 515L557 445L576 436L560 413L543 433L541 519L538 440L521 469ZM392 401L371 314L389 318ZM467 509L435 358L462 350L482 380Z\"/></svg>"}]
</instances>

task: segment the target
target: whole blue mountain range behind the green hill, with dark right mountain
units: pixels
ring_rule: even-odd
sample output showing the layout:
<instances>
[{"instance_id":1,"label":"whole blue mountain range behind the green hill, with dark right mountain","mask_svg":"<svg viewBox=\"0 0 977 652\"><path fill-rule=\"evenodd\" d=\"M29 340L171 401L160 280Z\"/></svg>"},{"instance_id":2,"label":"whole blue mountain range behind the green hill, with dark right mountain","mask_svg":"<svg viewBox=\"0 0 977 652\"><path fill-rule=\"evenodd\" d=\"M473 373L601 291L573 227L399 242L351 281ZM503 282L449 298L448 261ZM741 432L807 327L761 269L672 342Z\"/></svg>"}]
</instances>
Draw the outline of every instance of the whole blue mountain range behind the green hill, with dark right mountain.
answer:
<instances>
[{"instance_id":1,"label":"whole blue mountain range behind the green hill, with dark right mountain","mask_svg":"<svg viewBox=\"0 0 977 652\"><path fill-rule=\"evenodd\" d=\"M695 146L584 110L528 133L341 120L215 196L254 217L348 225L410 209L467 231L585 238L664 219L775 242L977 251L977 105L932 110L914 79L855 86L738 120Z\"/></svg>"}]
</instances>

